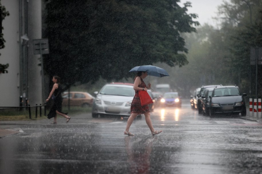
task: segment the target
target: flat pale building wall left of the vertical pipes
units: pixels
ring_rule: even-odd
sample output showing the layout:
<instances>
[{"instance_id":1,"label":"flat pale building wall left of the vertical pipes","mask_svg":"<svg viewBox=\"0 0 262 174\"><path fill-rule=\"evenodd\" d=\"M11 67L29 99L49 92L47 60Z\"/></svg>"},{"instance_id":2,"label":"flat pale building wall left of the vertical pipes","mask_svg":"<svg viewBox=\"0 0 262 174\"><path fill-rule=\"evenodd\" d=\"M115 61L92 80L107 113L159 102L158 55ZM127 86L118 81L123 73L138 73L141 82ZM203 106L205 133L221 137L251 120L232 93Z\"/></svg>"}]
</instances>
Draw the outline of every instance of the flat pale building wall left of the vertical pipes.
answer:
<instances>
[{"instance_id":1,"label":"flat pale building wall left of the vertical pipes","mask_svg":"<svg viewBox=\"0 0 262 174\"><path fill-rule=\"evenodd\" d=\"M19 106L20 96L20 42L19 42L19 1L1 0L10 16L3 20L5 48L0 49L0 63L9 63L8 73L0 74L0 106Z\"/></svg>"}]
</instances>

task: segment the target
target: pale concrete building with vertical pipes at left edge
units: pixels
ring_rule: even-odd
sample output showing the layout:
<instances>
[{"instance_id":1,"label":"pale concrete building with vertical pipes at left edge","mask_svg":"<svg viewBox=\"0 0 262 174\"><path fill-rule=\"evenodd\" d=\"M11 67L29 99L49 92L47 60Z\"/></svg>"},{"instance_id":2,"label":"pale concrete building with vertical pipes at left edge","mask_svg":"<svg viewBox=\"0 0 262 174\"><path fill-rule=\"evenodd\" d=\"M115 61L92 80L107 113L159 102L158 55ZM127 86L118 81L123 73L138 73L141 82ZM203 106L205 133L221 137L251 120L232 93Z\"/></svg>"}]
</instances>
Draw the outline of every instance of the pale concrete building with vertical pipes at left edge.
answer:
<instances>
[{"instance_id":1,"label":"pale concrete building with vertical pipes at left edge","mask_svg":"<svg viewBox=\"0 0 262 174\"><path fill-rule=\"evenodd\" d=\"M1 0L10 15L2 22L5 48L0 63L9 63L0 74L0 106L17 107L20 96L31 106L43 105L40 55L34 55L33 40L42 38L41 0Z\"/></svg>"}]
</instances>

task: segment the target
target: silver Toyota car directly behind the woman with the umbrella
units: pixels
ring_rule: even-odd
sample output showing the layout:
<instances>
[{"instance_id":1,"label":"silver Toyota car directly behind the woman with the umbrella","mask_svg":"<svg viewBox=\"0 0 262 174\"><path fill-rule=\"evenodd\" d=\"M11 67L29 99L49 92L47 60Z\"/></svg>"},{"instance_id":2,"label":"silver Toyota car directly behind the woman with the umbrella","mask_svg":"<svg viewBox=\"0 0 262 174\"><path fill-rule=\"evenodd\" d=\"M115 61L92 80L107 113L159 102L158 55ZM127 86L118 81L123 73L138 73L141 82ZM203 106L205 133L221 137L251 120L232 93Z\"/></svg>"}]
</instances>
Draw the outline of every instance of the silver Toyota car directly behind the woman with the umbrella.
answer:
<instances>
[{"instance_id":1,"label":"silver Toyota car directly behind the woman with the umbrella","mask_svg":"<svg viewBox=\"0 0 262 174\"><path fill-rule=\"evenodd\" d=\"M135 96L132 83L106 84L94 94L96 98L92 107L92 117L130 116L130 107Z\"/></svg>"}]
</instances>

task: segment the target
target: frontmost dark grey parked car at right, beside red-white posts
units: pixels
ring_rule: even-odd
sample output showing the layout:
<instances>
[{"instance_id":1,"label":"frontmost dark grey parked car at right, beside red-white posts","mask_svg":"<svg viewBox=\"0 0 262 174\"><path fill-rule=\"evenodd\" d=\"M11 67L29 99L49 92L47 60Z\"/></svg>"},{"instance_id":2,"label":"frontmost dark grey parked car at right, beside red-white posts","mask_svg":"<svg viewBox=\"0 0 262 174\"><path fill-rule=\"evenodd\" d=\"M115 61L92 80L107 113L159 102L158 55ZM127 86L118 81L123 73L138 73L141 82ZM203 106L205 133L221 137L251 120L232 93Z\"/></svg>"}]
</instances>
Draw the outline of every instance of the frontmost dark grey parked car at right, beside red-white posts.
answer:
<instances>
[{"instance_id":1,"label":"frontmost dark grey parked car at right, beside red-white posts","mask_svg":"<svg viewBox=\"0 0 262 174\"><path fill-rule=\"evenodd\" d=\"M247 114L247 108L243 97L247 94L240 95L237 86L216 87L212 91L210 99L210 117L214 114L238 114L242 116Z\"/></svg>"}]
</instances>

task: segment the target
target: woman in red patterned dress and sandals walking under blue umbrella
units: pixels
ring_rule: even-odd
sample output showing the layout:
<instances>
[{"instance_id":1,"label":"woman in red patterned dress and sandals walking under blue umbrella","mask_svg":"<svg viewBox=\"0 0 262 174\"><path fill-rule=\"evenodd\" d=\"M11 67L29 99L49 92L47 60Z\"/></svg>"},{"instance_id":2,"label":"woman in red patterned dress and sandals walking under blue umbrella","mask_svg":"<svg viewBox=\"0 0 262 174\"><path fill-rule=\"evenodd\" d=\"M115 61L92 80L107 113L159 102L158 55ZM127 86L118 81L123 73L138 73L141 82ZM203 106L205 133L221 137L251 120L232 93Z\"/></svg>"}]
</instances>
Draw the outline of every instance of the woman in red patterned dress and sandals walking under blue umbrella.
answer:
<instances>
[{"instance_id":1,"label":"woman in red patterned dress and sandals walking under blue umbrella","mask_svg":"<svg viewBox=\"0 0 262 174\"><path fill-rule=\"evenodd\" d=\"M150 111L148 105L141 106L140 98L138 91L147 91L148 88L151 88L151 84L149 83L147 86L143 79L147 77L146 71L138 71L137 75L135 76L135 83L134 83L134 90L135 90L135 96L133 98L133 101L131 103L131 115L127 120L127 127L124 131L125 135L133 136L131 132L129 132L129 128L131 124L133 123L133 120L138 114L144 114L145 115L145 121L151 131L152 135L156 135L162 132L162 130L155 130L153 128L151 119L150 119Z\"/></svg>"}]
</instances>

